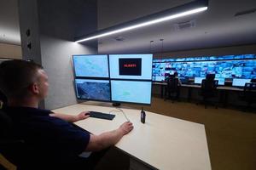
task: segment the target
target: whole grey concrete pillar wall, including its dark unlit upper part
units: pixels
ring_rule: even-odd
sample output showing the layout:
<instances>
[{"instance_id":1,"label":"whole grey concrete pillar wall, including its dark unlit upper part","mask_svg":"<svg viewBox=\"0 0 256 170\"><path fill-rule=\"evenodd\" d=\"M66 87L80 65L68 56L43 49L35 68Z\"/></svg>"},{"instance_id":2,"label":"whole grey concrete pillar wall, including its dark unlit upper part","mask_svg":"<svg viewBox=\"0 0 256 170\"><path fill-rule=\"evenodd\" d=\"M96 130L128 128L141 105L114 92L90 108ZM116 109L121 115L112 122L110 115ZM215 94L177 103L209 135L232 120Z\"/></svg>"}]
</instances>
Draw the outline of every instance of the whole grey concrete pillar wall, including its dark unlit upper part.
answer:
<instances>
[{"instance_id":1,"label":"whole grey concrete pillar wall, including its dark unlit upper part","mask_svg":"<svg viewBox=\"0 0 256 170\"><path fill-rule=\"evenodd\" d=\"M23 59L34 59L49 76L49 95L40 107L55 109L75 104L73 54L96 54L97 45L73 42L74 37L96 31L95 0L20 0ZM30 28L31 37L26 37ZM32 50L26 48L32 42Z\"/></svg>"}]
</instances>

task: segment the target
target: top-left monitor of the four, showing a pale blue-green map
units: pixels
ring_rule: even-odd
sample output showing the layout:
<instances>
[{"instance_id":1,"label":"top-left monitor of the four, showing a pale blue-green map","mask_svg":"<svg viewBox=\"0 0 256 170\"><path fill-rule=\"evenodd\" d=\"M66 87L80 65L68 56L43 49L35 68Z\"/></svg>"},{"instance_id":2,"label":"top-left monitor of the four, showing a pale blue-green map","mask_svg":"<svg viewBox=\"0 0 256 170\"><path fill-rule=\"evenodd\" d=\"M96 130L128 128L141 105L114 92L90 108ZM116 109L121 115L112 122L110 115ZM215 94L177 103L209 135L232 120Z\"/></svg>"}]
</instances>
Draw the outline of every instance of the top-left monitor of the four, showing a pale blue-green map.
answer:
<instances>
[{"instance_id":1,"label":"top-left monitor of the four, showing a pale blue-green map","mask_svg":"<svg viewBox=\"0 0 256 170\"><path fill-rule=\"evenodd\" d=\"M108 78L108 55L73 55L75 77Z\"/></svg>"}]
</instances>

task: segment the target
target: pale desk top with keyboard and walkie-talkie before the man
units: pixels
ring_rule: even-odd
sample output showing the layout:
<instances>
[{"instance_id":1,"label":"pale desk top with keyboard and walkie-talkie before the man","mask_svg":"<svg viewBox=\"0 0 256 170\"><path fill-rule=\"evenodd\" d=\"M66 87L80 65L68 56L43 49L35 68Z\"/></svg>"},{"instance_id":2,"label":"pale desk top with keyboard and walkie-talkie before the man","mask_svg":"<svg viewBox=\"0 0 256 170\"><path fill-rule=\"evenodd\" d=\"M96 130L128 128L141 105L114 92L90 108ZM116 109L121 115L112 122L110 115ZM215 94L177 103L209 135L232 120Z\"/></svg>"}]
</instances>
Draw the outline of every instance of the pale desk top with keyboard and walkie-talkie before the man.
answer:
<instances>
[{"instance_id":1,"label":"pale desk top with keyboard and walkie-talkie before the man","mask_svg":"<svg viewBox=\"0 0 256 170\"><path fill-rule=\"evenodd\" d=\"M157 169L209 170L211 163L207 148L205 127L195 122L183 121L146 111L146 123L140 122L140 111L122 109L134 129L115 146L130 156ZM81 111L117 111L113 107L95 105L70 105L55 112L77 115ZM90 133L100 134L119 127L125 122L121 112L113 112L113 121L88 118L75 124Z\"/></svg>"}]
</instances>

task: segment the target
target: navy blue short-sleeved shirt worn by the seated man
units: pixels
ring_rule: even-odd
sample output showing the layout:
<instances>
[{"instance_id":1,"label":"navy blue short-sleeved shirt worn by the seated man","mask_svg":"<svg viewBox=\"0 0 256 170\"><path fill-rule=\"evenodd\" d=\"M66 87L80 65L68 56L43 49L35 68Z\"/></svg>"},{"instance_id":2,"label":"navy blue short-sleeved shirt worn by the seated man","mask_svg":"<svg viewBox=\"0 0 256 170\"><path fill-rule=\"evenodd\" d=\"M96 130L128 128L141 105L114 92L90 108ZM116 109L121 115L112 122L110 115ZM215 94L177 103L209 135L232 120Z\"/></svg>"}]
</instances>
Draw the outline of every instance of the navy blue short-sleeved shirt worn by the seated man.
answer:
<instances>
[{"instance_id":1,"label":"navy blue short-sleeved shirt worn by the seated man","mask_svg":"<svg viewBox=\"0 0 256 170\"><path fill-rule=\"evenodd\" d=\"M17 138L25 141L24 156L38 166L73 164L89 143L90 133L49 116L51 111L30 107L5 107L3 111L12 118Z\"/></svg>"}]
</instances>

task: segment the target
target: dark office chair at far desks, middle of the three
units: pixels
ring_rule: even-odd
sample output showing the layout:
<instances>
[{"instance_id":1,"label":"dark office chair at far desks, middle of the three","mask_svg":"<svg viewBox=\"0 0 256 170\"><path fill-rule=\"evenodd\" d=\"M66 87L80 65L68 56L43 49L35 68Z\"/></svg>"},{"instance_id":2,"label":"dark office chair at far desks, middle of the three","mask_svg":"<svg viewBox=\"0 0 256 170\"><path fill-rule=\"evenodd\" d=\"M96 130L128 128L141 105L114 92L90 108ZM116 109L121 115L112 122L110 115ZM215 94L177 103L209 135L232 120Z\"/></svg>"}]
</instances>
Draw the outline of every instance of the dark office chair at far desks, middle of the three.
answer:
<instances>
[{"instance_id":1,"label":"dark office chair at far desks, middle of the three","mask_svg":"<svg viewBox=\"0 0 256 170\"><path fill-rule=\"evenodd\" d=\"M201 82L201 96L202 103L207 108L209 103L207 99L215 98L217 94L218 80L214 80L214 77L207 77ZM215 105L215 108L218 108L218 105Z\"/></svg>"}]
</instances>

